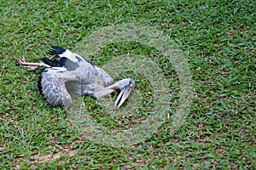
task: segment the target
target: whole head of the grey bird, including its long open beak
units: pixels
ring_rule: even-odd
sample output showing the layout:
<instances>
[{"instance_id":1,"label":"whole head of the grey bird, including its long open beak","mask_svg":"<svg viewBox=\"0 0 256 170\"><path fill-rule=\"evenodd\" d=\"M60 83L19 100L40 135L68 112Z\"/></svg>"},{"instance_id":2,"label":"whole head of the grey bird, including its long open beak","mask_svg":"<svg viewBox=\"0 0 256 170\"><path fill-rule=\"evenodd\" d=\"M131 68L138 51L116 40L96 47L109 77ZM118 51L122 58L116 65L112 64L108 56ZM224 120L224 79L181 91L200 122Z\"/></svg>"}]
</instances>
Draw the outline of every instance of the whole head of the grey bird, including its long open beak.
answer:
<instances>
[{"instance_id":1,"label":"whole head of the grey bird, including its long open beak","mask_svg":"<svg viewBox=\"0 0 256 170\"><path fill-rule=\"evenodd\" d=\"M120 94L115 100L113 110L117 111L121 105L125 102L125 99L129 97L133 88L135 88L135 81L132 78L125 78L117 82L120 88Z\"/></svg>"}]
</instances>

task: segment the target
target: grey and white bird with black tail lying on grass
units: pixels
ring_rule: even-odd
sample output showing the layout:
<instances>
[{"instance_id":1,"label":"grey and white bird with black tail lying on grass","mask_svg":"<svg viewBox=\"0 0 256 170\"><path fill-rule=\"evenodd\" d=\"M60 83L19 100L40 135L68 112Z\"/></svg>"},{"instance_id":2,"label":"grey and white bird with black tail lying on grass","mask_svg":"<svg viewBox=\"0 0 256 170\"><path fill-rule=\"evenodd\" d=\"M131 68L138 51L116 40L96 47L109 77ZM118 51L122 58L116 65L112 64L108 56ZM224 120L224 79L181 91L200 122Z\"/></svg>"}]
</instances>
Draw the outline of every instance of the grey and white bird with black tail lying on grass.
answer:
<instances>
[{"instance_id":1,"label":"grey and white bird with black tail lying on grass","mask_svg":"<svg viewBox=\"0 0 256 170\"><path fill-rule=\"evenodd\" d=\"M22 59L14 56L14 59L30 71L44 67L40 72L38 89L50 105L70 108L71 94L104 99L120 91L113 105L113 110L117 111L135 88L136 82L131 77L113 82L106 71L69 49L51 46L48 54L52 57L41 58L40 63L26 62L24 56Z\"/></svg>"}]
</instances>

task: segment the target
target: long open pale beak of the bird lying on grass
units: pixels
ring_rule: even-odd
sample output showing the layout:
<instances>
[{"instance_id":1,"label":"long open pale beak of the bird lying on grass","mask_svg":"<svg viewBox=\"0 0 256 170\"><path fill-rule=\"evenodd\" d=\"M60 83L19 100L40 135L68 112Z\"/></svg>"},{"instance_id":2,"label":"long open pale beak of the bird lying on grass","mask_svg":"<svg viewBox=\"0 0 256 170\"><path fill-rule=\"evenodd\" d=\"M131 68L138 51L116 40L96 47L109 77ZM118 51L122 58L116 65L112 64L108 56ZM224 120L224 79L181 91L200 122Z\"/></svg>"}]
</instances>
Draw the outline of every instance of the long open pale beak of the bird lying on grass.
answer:
<instances>
[{"instance_id":1,"label":"long open pale beak of the bird lying on grass","mask_svg":"<svg viewBox=\"0 0 256 170\"><path fill-rule=\"evenodd\" d=\"M129 97L131 94L132 88L135 87L134 80L131 79L131 83L124 88L121 88L121 92L118 96L118 98L115 100L113 105L113 110L117 111L121 105L125 102L125 100Z\"/></svg>"}]
</instances>

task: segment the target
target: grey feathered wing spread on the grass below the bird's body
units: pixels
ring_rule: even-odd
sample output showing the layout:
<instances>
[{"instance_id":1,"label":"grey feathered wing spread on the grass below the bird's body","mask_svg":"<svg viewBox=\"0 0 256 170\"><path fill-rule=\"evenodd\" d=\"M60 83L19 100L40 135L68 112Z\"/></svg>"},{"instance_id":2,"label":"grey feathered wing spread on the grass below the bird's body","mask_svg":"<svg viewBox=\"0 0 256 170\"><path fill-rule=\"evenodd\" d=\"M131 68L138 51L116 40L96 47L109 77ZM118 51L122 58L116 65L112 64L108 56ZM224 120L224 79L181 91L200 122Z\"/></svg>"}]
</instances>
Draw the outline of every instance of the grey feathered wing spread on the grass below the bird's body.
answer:
<instances>
[{"instance_id":1,"label":"grey feathered wing spread on the grass below the bird's body","mask_svg":"<svg viewBox=\"0 0 256 170\"><path fill-rule=\"evenodd\" d=\"M73 71L67 71L64 67L45 69L41 73L41 82L39 83L42 87L42 93L50 105L70 107L72 104L70 91L68 91L70 87L76 90L74 93L81 93L79 78L73 74ZM73 85L69 86L71 83Z\"/></svg>"}]
</instances>

